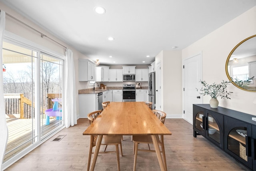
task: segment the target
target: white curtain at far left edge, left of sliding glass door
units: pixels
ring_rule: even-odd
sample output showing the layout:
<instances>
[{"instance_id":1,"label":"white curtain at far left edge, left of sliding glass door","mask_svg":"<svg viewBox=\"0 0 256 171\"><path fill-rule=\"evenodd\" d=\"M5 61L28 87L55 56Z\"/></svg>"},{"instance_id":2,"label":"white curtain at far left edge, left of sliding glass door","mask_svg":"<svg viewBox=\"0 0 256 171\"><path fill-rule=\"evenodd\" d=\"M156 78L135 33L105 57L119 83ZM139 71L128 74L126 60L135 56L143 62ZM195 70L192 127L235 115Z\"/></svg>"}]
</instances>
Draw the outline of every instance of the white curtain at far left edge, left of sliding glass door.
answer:
<instances>
[{"instance_id":1,"label":"white curtain at far left edge, left of sliding glass door","mask_svg":"<svg viewBox=\"0 0 256 171\"><path fill-rule=\"evenodd\" d=\"M5 12L0 11L0 64L3 64L3 36L5 27ZM2 66L2 65L1 65ZM4 110L4 84L3 69L0 70L0 170L2 171L2 163L8 140L8 128Z\"/></svg>"}]
</instances>

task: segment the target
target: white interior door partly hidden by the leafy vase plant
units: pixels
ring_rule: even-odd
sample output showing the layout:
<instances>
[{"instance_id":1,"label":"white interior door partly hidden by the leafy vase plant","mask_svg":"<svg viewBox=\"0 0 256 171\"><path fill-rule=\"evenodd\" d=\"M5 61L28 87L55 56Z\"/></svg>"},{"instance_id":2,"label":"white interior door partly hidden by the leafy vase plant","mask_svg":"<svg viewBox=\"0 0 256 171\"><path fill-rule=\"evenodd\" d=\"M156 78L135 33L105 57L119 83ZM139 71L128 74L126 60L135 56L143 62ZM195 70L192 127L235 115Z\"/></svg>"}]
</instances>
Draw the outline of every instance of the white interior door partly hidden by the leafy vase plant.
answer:
<instances>
[{"instance_id":1,"label":"white interior door partly hidden by the leafy vase plant","mask_svg":"<svg viewBox=\"0 0 256 171\"><path fill-rule=\"evenodd\" d=\"M184 60L184 116L193 123L193 104L202 103L202 96L196 91L201 88L202 53Z\"/></svg>"}]
</instances>

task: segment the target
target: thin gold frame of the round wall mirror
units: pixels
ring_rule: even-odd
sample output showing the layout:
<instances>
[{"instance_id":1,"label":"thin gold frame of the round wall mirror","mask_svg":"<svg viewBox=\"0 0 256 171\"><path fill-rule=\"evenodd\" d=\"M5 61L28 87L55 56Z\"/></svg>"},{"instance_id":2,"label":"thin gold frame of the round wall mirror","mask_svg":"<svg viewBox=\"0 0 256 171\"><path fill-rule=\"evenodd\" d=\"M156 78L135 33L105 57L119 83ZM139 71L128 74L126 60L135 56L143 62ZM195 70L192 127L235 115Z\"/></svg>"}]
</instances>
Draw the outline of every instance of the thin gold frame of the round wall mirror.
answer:
<instances>
[{"instance_id":1,"label":"thin gold frame of the round wall mirror","mask_svg":"<svg viewBox=\"0 0 256 171\"><path fill-rule=\"evenodd\" d=\"M227 58L227 60L226 60L226 75L228 76L228 80L230 80L230 81L232 82L232 84L234 84L236 87L238 87L238 88L240 88L240 89L243 89L243 90L245 90L245 91L251 91L251 92L256 92L256 87L250 87L250 88L248 88L248 89L245 89L245 88L239 86L238 84L236 84L236 83L234 82L234 80L232 80L232 78L230 77L230 74L228 73L228 63L230 62L230 58L231 58L232 54L234 53L234 51L235 51L241 44L243 44L243 43L246 42L247 40L249 40L249 39L251 39L251 38L254 38L254 37L256 37L256 35L250 36L250 37L244 39L244 40L243 40L242 42L240 42L238 45L236 45L236 46L232 49L232 51L230 52L230 54L228 55L228 58ZM256 47L255 47L255 49L256 49ZM237 58L236 58L236 59L237 59ZM238 59L238 60L239 60L239 59ZM249 77L250 77L250 76L249 76ZM255 80L255 79L256 79L256 76L254 76L253 79ZM252 80L252 81L253 81L253 80ZM254 90L254 89L255 89L255 90Z\"/></svg>"}]
</instances>

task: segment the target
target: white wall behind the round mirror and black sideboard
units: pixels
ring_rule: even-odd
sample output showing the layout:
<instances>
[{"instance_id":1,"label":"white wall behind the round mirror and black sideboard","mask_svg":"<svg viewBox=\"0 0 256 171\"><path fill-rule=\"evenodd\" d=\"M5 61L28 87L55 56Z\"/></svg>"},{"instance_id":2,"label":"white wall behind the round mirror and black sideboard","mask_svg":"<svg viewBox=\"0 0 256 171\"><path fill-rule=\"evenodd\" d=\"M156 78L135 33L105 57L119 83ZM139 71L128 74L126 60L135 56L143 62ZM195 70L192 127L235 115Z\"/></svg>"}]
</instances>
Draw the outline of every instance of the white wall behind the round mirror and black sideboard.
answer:
<instances>
[{"instance_id":1,"label":"white wall behind the round mirror and black sideboard","mask_svg":"<svg viewBox=\"0 0 256 171\"><path fill-rule=\"evenodd\" d=\"M211 84L227 80L225 64L231 50L242 40L256 34L256 6L234 20L226 23L204 38L182 50L182 60L202 51L202 80ZM220 99L219 106L256 115L255 92L241 90L234 85L231 99ZM210 97L204 96L203 103L209 103Z\"/></svg>"}]
</instances>

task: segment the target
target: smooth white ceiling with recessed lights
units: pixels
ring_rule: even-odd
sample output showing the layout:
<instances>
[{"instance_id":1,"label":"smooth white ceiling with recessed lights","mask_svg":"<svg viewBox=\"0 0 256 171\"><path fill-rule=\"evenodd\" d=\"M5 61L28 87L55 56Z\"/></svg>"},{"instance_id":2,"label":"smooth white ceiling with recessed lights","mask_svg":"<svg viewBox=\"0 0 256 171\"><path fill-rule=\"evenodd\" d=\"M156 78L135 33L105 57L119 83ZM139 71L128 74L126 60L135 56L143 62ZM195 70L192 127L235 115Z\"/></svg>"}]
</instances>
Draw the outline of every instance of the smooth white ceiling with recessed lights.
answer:
<instances>
[{"instance_id":1,"label":"smooth white ceiling with recessed lights","mask_svg":"<svg viewBox=\"0 0 256 171\"><path fill-rule=\"evenodd\" d=\"M101 65L150 64L182 50L256 0L0 0ZM106 9L96 14L95 6ZM109 41L108 37L114 37ZM147 58L146 56L150 57ZM113 56L113 58L109 58ZM113 62L116 63L113 63ZM145 61L145 63L142 63Z\"/></svg>"}]
</instances>

